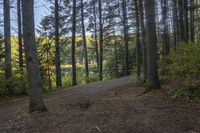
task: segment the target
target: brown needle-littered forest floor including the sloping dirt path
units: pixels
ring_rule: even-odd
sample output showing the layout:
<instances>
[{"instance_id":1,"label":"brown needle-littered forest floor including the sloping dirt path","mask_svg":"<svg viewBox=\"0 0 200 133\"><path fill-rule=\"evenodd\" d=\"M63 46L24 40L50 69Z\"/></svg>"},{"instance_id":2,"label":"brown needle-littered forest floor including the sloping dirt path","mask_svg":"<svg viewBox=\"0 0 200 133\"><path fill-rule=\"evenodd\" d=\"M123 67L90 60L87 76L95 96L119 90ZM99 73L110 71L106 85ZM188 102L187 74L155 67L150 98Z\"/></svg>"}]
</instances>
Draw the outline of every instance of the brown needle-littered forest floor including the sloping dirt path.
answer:
<instances>
[{"instance_id":1,"label":"brown needle-littered forest floor including the sloping dirt path","mask_svg":"<svg viewBox=\"0 0 200 133\"><path fill-rule=\"evenodd\" d=\"M174 101L170 85L144 93L131 77L44 96L49 112L25 113L28 98L0 103L0 133L200 133L200 103Z\"/></svg>"}]
</instances>

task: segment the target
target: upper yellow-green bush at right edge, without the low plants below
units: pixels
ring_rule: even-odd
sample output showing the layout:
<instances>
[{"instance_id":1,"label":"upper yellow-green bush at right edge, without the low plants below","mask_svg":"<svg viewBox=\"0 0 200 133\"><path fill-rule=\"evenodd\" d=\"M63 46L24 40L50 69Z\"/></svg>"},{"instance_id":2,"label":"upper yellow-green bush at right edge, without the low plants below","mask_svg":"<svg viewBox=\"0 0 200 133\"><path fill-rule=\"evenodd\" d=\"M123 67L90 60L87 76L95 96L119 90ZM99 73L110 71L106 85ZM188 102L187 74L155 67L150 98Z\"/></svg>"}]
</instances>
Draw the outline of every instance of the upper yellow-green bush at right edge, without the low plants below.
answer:
<instances>
[{"instance_id":1,"label":"upper yellow-green bush at right edge, without the low plants below","mask_svg":"<svg viewBox=\"0 0 200 133\"><path fill-rule=\"evenodd\" d=\"M189 84L200 82L200 45L181 44L168 58L165 69L172 80L181 80Z\"/></svg>"}]
</instances>

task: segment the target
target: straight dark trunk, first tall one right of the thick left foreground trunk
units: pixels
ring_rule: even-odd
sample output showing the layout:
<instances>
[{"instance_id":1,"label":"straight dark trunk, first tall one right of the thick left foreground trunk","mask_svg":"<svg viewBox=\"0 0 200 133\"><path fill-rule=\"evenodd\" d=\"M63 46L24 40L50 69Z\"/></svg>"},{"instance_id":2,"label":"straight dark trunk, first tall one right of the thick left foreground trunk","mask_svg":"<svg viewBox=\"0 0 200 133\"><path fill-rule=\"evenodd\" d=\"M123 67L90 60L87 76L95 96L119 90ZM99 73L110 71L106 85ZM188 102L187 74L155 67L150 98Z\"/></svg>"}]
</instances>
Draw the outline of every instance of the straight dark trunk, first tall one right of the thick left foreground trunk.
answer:
<instances>
[{"instance_id":1,"label":"straight dark trunk, first tall one right of the thick left foreground trunk","mask_svg":"<svg viewBox=\"0 0 200 133\"><path fill-rule=\"evenodd\" d=\"M59 5L58 0L55 0L55 60L56 60L56 87L62 87L62 74L60 63L60 43L59 43Z\"/></svg>"}]
</instances>

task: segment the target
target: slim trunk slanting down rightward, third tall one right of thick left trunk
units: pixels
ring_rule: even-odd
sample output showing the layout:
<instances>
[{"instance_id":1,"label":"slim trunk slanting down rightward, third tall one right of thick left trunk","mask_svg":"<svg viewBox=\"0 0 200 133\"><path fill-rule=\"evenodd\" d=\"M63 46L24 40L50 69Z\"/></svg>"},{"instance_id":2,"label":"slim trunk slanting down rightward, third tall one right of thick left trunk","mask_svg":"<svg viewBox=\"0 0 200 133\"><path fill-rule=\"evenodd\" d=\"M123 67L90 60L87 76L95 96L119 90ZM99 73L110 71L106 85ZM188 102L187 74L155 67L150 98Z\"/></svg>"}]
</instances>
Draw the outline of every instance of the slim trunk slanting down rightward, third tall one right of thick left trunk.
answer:
<instances>
[{"instance_id":1,"label":"slim trunk slanting down rightward, third tall one right of thick left trunk","mask_svg":"<svg viewBox=\"0 0 200 133\"><path fill-rule=\"evenodd\" d=\"M85 22L84 22L84 5L83 0L81 0L81 22L82 22L82 36L83 36L83 48L84 48L84 59L85 59L85 76L89 76L89 67L88 67L88 52L87 52L87 41L85 35Z\"/></svg>"}]
</instances>

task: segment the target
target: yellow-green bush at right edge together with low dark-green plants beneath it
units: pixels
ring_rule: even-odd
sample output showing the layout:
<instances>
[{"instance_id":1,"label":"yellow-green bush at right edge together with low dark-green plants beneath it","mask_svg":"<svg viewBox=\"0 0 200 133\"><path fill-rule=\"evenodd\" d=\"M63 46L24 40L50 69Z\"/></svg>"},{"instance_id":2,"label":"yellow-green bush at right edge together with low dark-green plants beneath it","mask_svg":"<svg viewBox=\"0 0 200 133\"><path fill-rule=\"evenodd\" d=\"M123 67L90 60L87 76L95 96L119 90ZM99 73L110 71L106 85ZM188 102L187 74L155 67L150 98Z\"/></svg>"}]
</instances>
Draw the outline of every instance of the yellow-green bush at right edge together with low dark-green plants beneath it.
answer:
<instances>
[{"instance_id":1,"label":"yellow-green bush at right edge together with low dark-green plants beneath it","mask_svg":"<svg viewBox=\"0 0 200 133\"><path fill-rule=\"evenodd\" d=\"M197 101L200 99L200 45L180 44L171 52L166 62L161 62L162 77L178 81L179 85L170 89L174 99Z\"/></svg>"}]
</instances>

